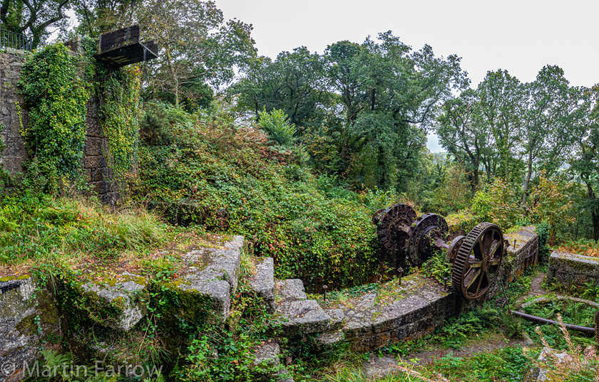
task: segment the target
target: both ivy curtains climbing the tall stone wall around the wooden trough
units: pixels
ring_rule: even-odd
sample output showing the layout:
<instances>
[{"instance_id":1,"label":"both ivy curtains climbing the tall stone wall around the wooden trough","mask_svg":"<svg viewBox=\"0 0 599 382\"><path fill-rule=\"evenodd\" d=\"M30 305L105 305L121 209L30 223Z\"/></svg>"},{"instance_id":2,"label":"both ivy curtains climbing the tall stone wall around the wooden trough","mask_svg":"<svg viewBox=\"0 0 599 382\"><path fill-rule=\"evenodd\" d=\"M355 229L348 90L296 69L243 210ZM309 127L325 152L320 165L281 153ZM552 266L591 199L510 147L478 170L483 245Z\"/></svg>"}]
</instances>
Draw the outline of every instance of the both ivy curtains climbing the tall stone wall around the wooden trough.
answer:
<instances>
[{"instance_id":1,"label":"both ivy curtains climbing the tall stone wall around the wooden trough","mask_svg":"<svg viewBox=\"0 0 599 382\"><path fill-rule=\"evenodd\" d=\"M32 161L29 173L46 179L55 191L58 179L81 174L86 142L86 103L101 100L99 118L108 138L107 156L123 179L138 147L140 70L106 68L93 57L97 41L83 38L83 54L56 43L31 55L23 65L19 87L29 125L21 124Z\"/></svg>"}]
</instances>

